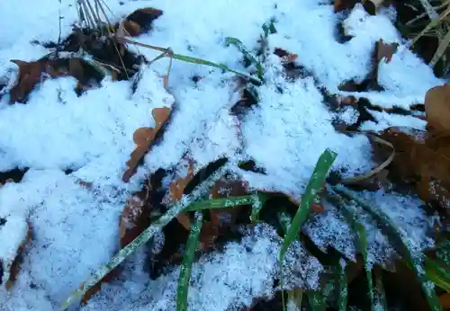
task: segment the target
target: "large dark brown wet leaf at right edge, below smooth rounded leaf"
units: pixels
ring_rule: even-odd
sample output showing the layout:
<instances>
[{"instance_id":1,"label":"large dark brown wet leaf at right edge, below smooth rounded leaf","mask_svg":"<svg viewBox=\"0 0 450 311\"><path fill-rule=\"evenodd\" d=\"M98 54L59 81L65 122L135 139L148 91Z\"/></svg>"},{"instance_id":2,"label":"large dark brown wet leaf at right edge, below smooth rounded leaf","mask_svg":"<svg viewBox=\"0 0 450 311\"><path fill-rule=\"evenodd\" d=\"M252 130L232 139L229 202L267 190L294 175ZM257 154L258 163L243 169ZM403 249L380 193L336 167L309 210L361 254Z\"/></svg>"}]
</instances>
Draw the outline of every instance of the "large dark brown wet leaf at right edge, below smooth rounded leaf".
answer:
<instances>
[{"instance_id":1,"label":"large dark brown wet leaf at right edge, below smooth rounded leaf","mask_svg":"<svg viewBox=\"0 0 450 311\"><path fill-rule=\"evenodd\" d=\"M392 178L414 184L421 200L450 208L450 136L437 138L419 129L392 127L381 137L395 147L389 167ZM373 147L375 157L385 156L383 147Z\"/></svg>"}]
</instances>

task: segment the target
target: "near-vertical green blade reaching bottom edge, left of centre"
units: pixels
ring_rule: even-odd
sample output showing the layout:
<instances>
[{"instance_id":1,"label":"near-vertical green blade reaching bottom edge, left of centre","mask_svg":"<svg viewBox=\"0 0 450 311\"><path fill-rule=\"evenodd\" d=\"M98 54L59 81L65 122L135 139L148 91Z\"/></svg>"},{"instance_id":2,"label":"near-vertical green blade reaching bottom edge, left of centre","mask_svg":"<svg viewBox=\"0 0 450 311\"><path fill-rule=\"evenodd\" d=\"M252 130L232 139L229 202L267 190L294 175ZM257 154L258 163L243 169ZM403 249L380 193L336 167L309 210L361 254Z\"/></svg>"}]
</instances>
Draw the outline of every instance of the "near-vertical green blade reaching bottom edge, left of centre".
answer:
<instances>
[{"instance_id":1,"label":"near-vertical green blade reaching bottom edge, left of centre","mask_svg":"<svg viewBox=\"0 0 450 311\"><path fill-rule=\"evenodd\" d=\"M176 311L187 310L187 293L189 290L189 280L191 280L191 270L193 258L197 248L198 237L202 230L202 214L195 215L191 232L187 238L186 249L184 251L183 263L180 267L180 278L178 279L178 289L176 291Z\"/></svg>"}]
</instances>

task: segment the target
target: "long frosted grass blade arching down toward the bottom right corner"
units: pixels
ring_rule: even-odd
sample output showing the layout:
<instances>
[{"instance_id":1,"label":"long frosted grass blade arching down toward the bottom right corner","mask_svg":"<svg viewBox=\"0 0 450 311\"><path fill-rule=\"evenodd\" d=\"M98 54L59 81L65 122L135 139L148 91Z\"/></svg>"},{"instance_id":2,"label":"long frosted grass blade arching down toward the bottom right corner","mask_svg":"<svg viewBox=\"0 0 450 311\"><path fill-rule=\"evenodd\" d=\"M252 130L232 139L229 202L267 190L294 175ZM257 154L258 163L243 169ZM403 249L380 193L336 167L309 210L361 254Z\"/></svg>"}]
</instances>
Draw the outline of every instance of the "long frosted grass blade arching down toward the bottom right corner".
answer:
<instances>
[{"instance_id":1,"label":"long frosted grass blade arching down toward the bottom right corner","mask_svg":"<svg viewBox=\"0 0 450 311\"><path fill-rule=\"evenodd\" d=\"M378 224L383 227L383 229L385 229L386 233L396 240L395 242L397 242L401 246L401 256L407 262L409 262L410 267L415 272L416 277L420 282L425 297L427 298L429 307L431 307L431 309L434 311L442 311L442 307L439 303L439 298L437 298L435 290L428 284L427 276L424 273L424 264L422 262L422 259L419 255L413 255L411 253L412 250L410 250L408 246L409 243L405 240L405 236L401 232L401 229L395 226L395 224L392 222L392 219L387 216L383 212L383 210L371 208L367 203L365 203L364 200L356 198L353 192L338 186L333 187L333 189L338 194L347 198L347 200L354 201L361 208L365 209L365 211L369 213L378 222Z\"/></svg>"}]
</instances>

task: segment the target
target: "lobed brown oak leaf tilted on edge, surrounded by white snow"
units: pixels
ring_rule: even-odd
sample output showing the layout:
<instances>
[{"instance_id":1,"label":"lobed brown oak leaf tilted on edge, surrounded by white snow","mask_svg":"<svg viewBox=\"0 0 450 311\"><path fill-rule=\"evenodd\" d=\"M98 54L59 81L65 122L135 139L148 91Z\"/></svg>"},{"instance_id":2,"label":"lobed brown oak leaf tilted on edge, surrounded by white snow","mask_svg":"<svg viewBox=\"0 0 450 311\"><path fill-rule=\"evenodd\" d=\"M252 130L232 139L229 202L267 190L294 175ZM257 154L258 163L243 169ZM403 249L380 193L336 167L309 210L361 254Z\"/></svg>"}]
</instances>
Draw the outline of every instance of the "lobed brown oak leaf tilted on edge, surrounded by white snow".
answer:
<instances>
[{"instance_id":1,"label":"lobed brown oak leaf tilted on edge, surrounded by white snow","mask_svg":"<svg viewBox=\"0 0 450 311\"><path fill-rule=\"evenodd\" d=\"M136 173L139 163L142 161L144 155L147 154L148 147L155 139L157 131L162 128L164 123L169 119L170 108L155 108L152 111L153 119L155 120L155 128L140 128L136 129L133 134L134 143L137 145L136 149L131 153L130 160L127 162L129 168L123 173L123 182L129 182L131 176Z\"/></svg>"}]
</instances>

